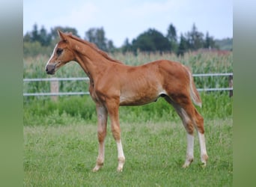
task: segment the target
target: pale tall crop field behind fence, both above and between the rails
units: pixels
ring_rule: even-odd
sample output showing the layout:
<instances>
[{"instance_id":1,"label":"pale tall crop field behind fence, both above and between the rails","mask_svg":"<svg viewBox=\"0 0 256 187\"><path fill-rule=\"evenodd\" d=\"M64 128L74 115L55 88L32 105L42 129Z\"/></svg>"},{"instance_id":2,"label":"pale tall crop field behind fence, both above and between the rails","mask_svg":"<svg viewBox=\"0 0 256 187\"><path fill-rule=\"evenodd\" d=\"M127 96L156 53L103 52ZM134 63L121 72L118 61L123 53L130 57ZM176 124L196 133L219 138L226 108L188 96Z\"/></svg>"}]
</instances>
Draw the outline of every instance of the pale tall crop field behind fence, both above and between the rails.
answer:
<instances>
[{"instance_id":1,"label":"pale tall crop field behind fence, both above and between the rails","mask_svg":"<svg viewBox=\"0 0 256 187\"><path fill-rule=\"evenodd\" d=\"M183 57L177 57L172 53L115 53L112 58L123 61L128 65L140 65L149 61L167 59L171 61L180 61L180 63L191 68L192 73L231 73L233 72L233 55L218 55L218 53L186 53ZM37 58L23 59L23 78L46 78L52 77L45 73L46 62L49 57L37 56ZM70 62L58 70L55 77L85 77L85 73L79 64ZM202 77L195 78L197 88L227 88L228 77ZM88 82L65 81L59 82L61 92L67 91L88 91ZM25 82L23 86L24 93L49 92L49 82ZM30 97L29 99L31 99ZM28 99L28 98L26 98Z\"/></svg>"}]
</instances>

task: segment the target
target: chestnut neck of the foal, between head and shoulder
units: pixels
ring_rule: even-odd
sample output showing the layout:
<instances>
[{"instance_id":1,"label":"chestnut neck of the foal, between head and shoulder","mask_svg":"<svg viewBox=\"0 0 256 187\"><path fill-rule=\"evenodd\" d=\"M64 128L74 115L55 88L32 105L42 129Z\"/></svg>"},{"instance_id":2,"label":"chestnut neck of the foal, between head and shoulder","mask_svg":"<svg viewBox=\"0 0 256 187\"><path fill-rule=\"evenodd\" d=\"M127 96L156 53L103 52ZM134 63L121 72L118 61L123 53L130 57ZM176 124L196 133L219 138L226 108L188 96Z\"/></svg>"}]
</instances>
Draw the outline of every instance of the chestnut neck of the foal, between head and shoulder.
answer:
<instances>
[{"instance_id":1,"label":"chestnut neck of the foal, between head and shoulder","mask_svg":"<svg viewBox=\"0 0 256 187\"><path fill-rule=\"evenodd\" d=\"M76 61L90 79L95 79L97 75L106 70L106 67L112 64L112 61L90 45L74 41L72 46L75 51Z\"/></svg>"}]
</instances>

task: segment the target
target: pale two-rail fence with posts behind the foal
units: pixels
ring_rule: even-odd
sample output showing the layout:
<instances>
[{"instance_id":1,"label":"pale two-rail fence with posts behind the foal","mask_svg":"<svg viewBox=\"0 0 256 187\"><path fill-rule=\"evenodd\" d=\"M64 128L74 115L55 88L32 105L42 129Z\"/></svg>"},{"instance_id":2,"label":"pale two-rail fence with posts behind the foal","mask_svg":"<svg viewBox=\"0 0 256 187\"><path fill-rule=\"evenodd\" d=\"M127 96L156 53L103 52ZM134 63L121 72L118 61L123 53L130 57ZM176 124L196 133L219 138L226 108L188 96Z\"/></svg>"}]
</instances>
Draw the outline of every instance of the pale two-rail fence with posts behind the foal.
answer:
<instances>
[{"instance_id":1,"label":"pale two-rail fence with posts behind the foal","mask_svg":"<svg viewBox=\"0 0 256 187\"><path fill-rule=\"evenodd\" d=\"M205 77L205 76L231 76L233 82L233 73L207 73L207 74L193 74L193 77ZM230 81L231 81L230 80ZM52 89L49 93L23 93L23 96L65 96L65 95L88 95L88 91L85 92L59 92L58 82L61 81L89 81L88 77L78 77L78 78L43 78L43 79L23 79L23 82L51 82L57 83L54 87L57 89ZM198 91L233 91L233 83L229 84L229 88L198 88Z\"/></svg>"}]
</instances>

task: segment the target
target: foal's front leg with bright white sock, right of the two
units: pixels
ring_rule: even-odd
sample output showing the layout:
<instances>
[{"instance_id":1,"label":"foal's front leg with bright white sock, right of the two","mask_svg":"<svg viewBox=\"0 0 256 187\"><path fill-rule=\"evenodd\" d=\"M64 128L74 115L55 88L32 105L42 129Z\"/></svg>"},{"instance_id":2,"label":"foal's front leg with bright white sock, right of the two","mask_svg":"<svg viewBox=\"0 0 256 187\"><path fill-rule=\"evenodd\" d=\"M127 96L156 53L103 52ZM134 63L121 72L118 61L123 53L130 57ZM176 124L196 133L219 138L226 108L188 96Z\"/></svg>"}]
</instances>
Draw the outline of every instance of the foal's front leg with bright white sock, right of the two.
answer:
<instances>
[{"instance_id":1,"label":"foal's front leg with bright white sock, right of the two","mask_svg":"<svg viewBox=\"0 0 256 187\"><path fill-rule=\"evenodd\" d=\"M118 168L117 171L123 171L124 168L124 150L121 142L121 128L119 123L119 102L108 102L107 103L108 111L109 111L109 117L111 120L111 129L112 129L112 135L115 138L115 142L118 147Z\"/></svg>"}]
</instances>

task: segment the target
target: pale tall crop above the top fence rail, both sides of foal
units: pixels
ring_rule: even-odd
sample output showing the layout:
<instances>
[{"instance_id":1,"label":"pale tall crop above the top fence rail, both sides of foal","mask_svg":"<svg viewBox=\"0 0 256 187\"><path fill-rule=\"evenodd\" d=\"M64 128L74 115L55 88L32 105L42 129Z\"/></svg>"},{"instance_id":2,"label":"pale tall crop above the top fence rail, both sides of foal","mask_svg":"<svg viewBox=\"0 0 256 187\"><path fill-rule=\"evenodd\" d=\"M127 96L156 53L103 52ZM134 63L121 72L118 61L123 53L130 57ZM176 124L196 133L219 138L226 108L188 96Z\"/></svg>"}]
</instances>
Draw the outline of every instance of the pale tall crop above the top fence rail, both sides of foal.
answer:
<instances>
[{"instance_id":1,"label":"pale tall crop above the top fence rail, both sides of foal","mask_svg":"<svg viewBox=\"0 0 256 187\"><path fill-rule=\"evenodd\" d=\"M138 66L150 61L166 59L179 61L190 67L193 73L230 73L233 72L233 53L219 55L216 52L187 52L184 56L177 56L172 53L144 53L138 55L133 53L114 53L112 58L122 61L124 64ZM23 59L23 78L45 78L46 62L48 56L39 55L36 58ZM70 62L58 70L56 77L85 76L85 73L78 64ZM49 76L48 76L49 77Z\"/></svg>"}]
</instances>

